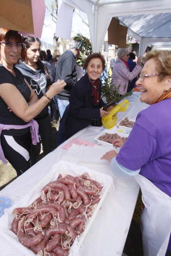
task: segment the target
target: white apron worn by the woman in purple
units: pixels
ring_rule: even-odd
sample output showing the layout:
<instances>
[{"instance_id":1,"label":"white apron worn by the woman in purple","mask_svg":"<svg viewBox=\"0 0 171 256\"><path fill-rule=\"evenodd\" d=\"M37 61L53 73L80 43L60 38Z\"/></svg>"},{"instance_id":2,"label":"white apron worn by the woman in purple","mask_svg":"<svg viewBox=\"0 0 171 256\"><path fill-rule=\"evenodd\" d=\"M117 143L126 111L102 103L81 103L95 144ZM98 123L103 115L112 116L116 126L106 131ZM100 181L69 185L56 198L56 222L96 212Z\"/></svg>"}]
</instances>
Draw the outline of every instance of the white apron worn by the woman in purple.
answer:
<instances>
[{"instance_id":1,"label":"white apron worn by the woman in purple","mask_svg":"<svg viewBox=\"0 0 171 256\"><path fill-rule=\"evenodd\" d=\"M144 256L165 256L171 233L171 197L140 174L134 178L145 206L141 215Z\"/></svg>"}]
</instances>

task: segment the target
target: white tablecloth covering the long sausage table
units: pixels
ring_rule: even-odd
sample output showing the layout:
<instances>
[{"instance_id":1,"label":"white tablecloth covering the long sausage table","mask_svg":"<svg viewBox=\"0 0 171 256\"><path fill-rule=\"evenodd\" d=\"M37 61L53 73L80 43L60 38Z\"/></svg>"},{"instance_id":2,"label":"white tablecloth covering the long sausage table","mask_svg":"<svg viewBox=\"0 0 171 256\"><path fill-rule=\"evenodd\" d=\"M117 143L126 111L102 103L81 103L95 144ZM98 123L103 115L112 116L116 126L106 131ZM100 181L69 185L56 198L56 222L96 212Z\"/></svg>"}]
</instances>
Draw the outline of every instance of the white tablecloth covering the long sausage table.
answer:
<instances>
[{"instance_id":1,"label":"white tablecloth covering the long sausage table","mask_svg":"<svg viewBox=\"0 0 171 256\"><path fill-rule=\"evenodd\" d=\"M125 116L135 120L138 112L147 108L148 105L140 102L138 94L139 93L134 93L130 97L126 98L130 103L129 108L126 112L120 112L117 114L118 121ZM75 159L76 163L85 165L98 172L109 174L113 177L115 182L115 190L113 193L107 194L102 207L83 242L82 255L118 256L122 255L123 252L134 207L137 201L139 186L135 182L134 178L130 178L129 180L121 180L117 178L111 172L108 163L101 163L100 159L98 160L95 147L94 149L91 147L90 161L87 161L88 157L86 157L85 161L84 158L73 157L72 159L69 159L67 157L68 151L62 149L62 146L73 138L80 138L88 142L96 143L94 138L98 133L99 132L92 131L88 128L77 132L72 136L72 138L64 142L50 154L46 155L46 157L32 166L27 170L27 172L7 185L0 192L0 196L9 197L12 202L19 201L20 197L26 195L30 189L34 188L38 181L46 176L51 166L54 163L57 163L60 159L69 161L74 161ZM110 150L110 147L100 147L104 152ZM94 158L92 158L93 150L94 155L96 155ZM85 151L84 154L88 153ZM100 157L101 155L99 155L99 158ZM10 244L8 246L10 246Z\"/></svg>"}]
</instances>

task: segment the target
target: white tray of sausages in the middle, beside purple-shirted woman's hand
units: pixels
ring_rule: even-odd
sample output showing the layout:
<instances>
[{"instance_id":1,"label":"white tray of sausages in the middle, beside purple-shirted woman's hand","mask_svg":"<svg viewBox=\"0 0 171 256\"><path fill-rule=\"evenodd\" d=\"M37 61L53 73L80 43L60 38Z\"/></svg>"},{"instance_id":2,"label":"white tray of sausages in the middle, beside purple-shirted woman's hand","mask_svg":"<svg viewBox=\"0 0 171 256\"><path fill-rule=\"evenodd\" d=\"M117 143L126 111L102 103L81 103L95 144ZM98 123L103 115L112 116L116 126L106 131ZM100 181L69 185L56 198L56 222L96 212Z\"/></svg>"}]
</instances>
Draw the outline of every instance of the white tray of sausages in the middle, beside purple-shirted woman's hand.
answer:
<instances>
[{"instance_id":1,"label":"white tray of sausages in the middle, beside purple-shirted woman's hand","mask_svg":"<svg viewBox=\"0 0 171 256\"><path fill-rule=\"evenodd\" d=\"M124 127L124 129L115 129L115 131L111 131L109 129L105 129L103 132L101 132L99 135L97 135L94 140L96 140L96 142L100 145L104 145L104 146L108 146L108 147L113 147L113 144L109 143L109 142L104 142L102 140L99 140L99 137L102 136L102 135L105 135L105 133L109 133L109 134L112 134L112 133L117 133L119 136L121 137L128 137L129 134L130 134L130 131L129 130L126 130L125 129L126 127Z\"/></svg>"}]
</instances>

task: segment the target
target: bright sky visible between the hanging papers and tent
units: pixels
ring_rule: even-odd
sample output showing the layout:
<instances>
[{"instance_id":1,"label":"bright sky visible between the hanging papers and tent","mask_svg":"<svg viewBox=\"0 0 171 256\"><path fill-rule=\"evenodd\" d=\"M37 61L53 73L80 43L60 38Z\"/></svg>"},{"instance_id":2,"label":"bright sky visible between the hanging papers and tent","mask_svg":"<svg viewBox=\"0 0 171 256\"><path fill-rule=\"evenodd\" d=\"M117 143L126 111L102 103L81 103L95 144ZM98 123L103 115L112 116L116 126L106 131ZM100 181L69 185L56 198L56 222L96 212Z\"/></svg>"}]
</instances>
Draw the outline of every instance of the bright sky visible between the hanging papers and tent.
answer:
<instances>
[{"instance_id":1,"label":"bright sky visible between the hanging papers and tent","mask_svg":"<svg viewBox=\"0 0 171 256\"><path fill-rule=\"evenodd\" d=\"M49 2L49 0L45 0L45 3L47 2ZM78 10L76 11L78 12ZM84 12L80 12L80 13L83 19L88 23L87 14ZM41 40L44 42L47 42L48 44L53 45L53 34L55 33L55 30L56 30L56 24L53 22L52 16L49 14L49 11L47 9L45 14L44 24L45 25L43 26ZM72 31L74 35L76 35L77 33L81 33L84 36L90 38L88 26L82 22L81 18L76 14L76 12L73 13Z\"/></svg>"}]
</instances>

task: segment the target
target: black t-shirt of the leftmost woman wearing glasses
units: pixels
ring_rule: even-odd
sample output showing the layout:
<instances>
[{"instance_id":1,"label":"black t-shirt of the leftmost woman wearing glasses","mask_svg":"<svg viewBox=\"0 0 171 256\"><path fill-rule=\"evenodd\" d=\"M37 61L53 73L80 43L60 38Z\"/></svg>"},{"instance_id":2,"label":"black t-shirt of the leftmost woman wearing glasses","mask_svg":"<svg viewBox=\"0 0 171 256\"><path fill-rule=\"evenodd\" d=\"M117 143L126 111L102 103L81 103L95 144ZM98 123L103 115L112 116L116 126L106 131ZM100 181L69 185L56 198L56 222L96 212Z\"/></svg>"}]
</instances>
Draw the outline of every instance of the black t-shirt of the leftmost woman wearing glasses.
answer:
<instances>
[{"instance_id":1,"label":"black t-shirt of the leftmost woman wearing glasses","mask_svg":"<svg viewBox=\"0 0 171 256\"><path fill-rule=\"evenodd\" d=\"M24 76L17 68L13 68L15 75L8 71L3 65L0 64L0 84L10 83L13 84L23 95L24 99L28 102L31 94L31 90L24 81ZM5 86L5 85L4 85ZM9 95L12 98L12 94ZM9 112L8 106L5 101L0 97L0 123L1 124L14 124L14 125L24 125L27 124L21 118L16 116L13 112ZM26 133L30 128L15 130L10 129L9 131L3 130L2 133L5 135L21 135Z\"/></svg>"}]
</instances>

